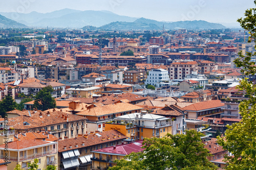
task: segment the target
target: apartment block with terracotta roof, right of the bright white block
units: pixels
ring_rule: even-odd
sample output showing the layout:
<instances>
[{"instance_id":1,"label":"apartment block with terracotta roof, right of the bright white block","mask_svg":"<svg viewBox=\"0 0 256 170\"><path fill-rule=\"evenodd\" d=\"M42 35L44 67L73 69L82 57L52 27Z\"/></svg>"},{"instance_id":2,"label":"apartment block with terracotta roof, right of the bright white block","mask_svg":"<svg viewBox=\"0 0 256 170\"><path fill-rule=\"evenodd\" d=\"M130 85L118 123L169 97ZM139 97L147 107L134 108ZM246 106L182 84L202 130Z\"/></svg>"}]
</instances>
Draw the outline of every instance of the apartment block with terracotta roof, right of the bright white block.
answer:
<instances>
[{"instance_id":1,"label":"apartment block with terracotta roof, right of the bright white block","mask_svg":"<svg viewBox=\"0 0 256 170\"><path fill-rule=\"evenodd\" d=\"M198 73L199 67L196 61L175 62L169 66L170 79L185 79L187 75Z\"/></svg>"}]
</instances>

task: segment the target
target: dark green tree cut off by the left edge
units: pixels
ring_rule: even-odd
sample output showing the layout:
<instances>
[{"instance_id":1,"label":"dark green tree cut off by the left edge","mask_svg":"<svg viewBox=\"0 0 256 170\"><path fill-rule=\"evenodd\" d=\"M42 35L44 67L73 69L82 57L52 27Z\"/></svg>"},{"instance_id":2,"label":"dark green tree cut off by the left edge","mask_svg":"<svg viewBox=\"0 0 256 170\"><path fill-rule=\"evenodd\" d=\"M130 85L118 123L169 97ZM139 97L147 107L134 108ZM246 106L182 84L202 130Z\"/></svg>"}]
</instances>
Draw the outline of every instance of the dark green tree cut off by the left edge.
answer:
<instances>
[{"instance_id":1,"label":"dark green tree cut off by the left edge","mask_svg":"<svg viewBox=\"0 0 256 170\"><path fill-rule=\"evenodd\" d=\"M6 112L14 110L17 107L18 107L18 104L14 101L14 99L12 99L10 94L8 94L0 102L0 114L3 117Z\"/></svg>"}]
</instances>

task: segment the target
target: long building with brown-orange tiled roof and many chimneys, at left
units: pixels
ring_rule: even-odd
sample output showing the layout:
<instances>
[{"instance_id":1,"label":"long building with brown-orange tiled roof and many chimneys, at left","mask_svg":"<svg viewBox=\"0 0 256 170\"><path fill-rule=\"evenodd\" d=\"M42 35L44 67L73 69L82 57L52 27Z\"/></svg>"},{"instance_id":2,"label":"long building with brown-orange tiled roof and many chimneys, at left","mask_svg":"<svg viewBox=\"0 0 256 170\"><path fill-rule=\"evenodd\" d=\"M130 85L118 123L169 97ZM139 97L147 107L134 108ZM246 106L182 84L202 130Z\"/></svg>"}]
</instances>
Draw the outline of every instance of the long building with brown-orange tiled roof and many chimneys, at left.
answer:
<instances>
[{"instance_id":1,"label":"long building with brown-orange tiled roof and many chimneys, at left","mask_svg":"<svg viewBox=\"0 0 256 170\"><path fill-rule=\"evenodd\" d=\"M8 118L8 126L15 132L38 132L42 129L56 137L73 138L77 134L86 132L86 118L70 113L56 111L29 111L22 116Z\"/></svg>"}]
</instances>

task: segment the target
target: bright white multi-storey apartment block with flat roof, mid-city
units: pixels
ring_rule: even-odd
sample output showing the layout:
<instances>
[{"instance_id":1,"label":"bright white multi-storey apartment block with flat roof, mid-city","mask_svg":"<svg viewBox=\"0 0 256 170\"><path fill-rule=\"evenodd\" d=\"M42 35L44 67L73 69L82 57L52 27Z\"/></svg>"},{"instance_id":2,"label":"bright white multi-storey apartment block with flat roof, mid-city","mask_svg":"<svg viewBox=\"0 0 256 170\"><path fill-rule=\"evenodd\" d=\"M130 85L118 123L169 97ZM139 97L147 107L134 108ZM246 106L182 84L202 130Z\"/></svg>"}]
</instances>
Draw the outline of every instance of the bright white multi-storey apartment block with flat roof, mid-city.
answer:
<instances>
[{"instance_id":1,"label":"bright white multi-storey apartment block with flat roof, mid-city","mask_svg":"<svg viewBox=\"0 0 256 170\"><path fill-rule=\"evenodd\" d=\"M169 74L165 69L153 69L148 71L148 76L146 78L145 84L150 84L153 86L158 86L159 82L169 82Z\"/></svg>"}]
</instances>

